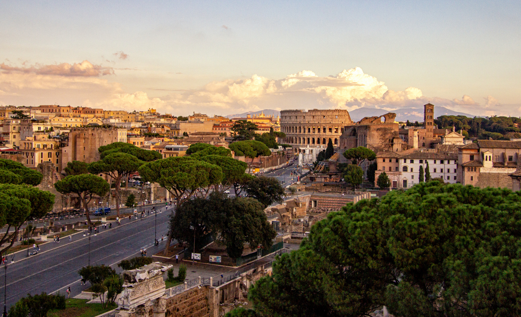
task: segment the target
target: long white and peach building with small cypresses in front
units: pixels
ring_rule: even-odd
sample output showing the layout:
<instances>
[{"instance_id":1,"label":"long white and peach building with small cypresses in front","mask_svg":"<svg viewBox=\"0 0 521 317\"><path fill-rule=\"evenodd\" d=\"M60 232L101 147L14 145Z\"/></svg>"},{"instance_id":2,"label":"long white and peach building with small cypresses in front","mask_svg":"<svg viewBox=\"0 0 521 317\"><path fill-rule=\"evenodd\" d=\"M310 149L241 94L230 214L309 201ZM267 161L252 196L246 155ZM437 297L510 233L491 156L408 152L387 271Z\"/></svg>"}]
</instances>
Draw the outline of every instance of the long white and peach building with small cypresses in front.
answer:
<instances>
[{"instance_id":1,"label":"long white and peach building with small cypresses in front","mask_svg":"<svg viewBox=\"0 0 521 317\"><path fill-rule=\"evenodd\" d=\"M429 163L431 178L442 178L444 182L455 184L457 177L457 154L415 151L411 153L379 152L376 156L378 170L375 172L375 186L378 176L386 172L392 188L410 188L419 182L419 167L424 171ZM424 172L425 175L425 172Z\"/></svg>"}]
</instances>

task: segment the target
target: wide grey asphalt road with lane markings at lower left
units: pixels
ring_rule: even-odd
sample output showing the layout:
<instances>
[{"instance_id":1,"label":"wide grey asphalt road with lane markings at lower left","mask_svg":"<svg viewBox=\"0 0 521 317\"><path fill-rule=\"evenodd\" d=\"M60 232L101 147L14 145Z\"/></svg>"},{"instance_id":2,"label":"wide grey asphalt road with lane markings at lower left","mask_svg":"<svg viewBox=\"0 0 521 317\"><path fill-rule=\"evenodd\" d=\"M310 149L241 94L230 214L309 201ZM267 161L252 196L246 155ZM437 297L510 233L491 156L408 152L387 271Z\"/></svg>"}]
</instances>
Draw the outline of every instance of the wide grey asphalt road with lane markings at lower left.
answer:
<instances>
[{"instance_id":1,"label":"wide grey asphalt road with lane markings at lower left","mask_svg":"<svg viewBox=\"0 0 521 317\"><path fill-rule=\"evenodd\" d=\"M159 240L161 235L166 236L167 234L167 222L171 210L164 210L157 214L157 237ZM152 255L158 249L163 249L164 245L153 246L154 224L155 217L152 215L130 222L126 218L121 226L101 230L96 236L92 235L90 241L91 265L110 265L119 273L121 269L116 264L123 259L139 255L140 248L146 247L147 255ZM45 291L49 294L60 290L62 294L65 294L66 288L70 286L71 296L75 296L86 288L86 286L80 285L80 276L77 272L81 267L88 265L89 239L81 234L76 235L75 239L77 241L46 252L43 252L45 250L42 249L37 255L7 265L8 308L28 293L39 294ZM68 238L60 240L68 242ZM48 243L48 245L58 246L54 242ZM17 253L16 258L20 259L22 256ZM16 258L15 260L17 260ZM0 287L0 294L4 292L3 288L4 283Z\"/></svg>"}]
</instances>

